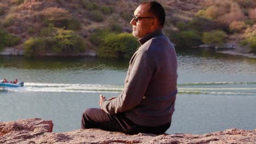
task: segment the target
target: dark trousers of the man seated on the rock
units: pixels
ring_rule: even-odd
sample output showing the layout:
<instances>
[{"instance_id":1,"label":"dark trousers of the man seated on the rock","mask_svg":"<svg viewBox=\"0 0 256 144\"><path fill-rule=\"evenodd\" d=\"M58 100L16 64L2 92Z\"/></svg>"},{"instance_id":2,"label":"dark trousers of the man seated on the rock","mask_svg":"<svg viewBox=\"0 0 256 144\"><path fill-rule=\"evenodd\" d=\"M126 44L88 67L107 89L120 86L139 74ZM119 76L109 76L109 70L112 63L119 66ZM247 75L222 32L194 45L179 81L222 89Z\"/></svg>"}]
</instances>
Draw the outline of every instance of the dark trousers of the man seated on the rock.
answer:
<instances>
[{"instance_id":1,"label":"dark trousers of the man seated on the rock","mask_svg":"<svg viewBox=\"0 0 256 144\"><path fill-rule=\"evenodd\" d=\"M171 122L157 127L145 127L133 123L124 113L110 115L101 109L85 110L81 121L82 129L100 128L107 131L121 131L125 134L163 134L170 126Z\"/></svg>"}]
</instances>

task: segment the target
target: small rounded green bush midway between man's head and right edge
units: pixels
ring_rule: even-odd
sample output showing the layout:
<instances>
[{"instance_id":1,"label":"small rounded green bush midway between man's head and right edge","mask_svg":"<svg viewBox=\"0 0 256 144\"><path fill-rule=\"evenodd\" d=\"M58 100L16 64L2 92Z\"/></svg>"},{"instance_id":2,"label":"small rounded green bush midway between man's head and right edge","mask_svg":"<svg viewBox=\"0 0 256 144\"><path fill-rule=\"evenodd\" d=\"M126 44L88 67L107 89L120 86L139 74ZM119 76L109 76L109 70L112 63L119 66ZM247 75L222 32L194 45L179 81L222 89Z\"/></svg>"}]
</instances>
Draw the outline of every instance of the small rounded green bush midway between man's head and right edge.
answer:
<instances>
[{"instance_id":1,"label":"small rounded green bush midway between man's head and right edge","mask_svg":"<svg viewBox=\"0 0 256 144\"><path fill-rule=\"evenodd\" d=\"M214 30L211 32L204 32L202 35L202 41L205 44L222 45L224 43L226 33L220 30Z\"/></svg>"}]
</instances>

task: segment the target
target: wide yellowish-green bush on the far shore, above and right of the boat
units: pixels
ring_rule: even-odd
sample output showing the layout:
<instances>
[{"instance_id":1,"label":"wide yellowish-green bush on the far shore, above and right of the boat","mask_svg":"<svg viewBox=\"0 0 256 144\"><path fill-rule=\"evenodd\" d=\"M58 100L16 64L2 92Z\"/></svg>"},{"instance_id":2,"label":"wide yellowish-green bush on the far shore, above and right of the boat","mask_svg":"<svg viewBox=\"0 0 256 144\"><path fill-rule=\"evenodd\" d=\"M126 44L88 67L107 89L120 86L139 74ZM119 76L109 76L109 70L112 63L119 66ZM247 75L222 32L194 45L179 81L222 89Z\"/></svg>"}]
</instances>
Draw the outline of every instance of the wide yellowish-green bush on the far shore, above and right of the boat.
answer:
<instances>
[{"instance_id":1,"label":"wide yellowish-green bush on the far shore, above and right of the boat","mask_svg":"<svg viewBox=\"0 0 256 144\"><path fill-rule=\"evenodd\" d=\"M51 27L45 29L46 32L41 31L43 37L30 38L25 41L25 56L43 55L44 52L68 55L85 51L84 40L73 31ZM49 32L51 29L55 32Z\"/></svg>"}]
</instances>

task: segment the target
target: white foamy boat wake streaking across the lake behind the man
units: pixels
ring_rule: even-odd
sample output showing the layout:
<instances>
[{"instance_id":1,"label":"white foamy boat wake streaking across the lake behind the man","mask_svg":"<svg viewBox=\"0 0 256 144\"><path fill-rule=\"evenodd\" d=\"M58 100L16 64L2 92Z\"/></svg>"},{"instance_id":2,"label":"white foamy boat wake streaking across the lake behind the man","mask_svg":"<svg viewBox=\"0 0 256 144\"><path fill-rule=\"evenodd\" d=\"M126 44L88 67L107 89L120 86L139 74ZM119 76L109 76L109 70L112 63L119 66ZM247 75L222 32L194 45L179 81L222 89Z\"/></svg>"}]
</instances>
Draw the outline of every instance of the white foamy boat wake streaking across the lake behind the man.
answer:
<instances>
[{"instance_id":1,"label":"white foamy boat wake streaking across the lake behind the man","mask_svg":"<svg viewBox=\"0 0 256 144\"><path fill-rule=\"evenodd\" d=\"M120 93L123 85L33 83L24 87L0 88L0 92ZM2 89L2 90L1 90ZM178 84L178 94L255 95L256 82L201 82Z\"/></svg>"}]
</instances>

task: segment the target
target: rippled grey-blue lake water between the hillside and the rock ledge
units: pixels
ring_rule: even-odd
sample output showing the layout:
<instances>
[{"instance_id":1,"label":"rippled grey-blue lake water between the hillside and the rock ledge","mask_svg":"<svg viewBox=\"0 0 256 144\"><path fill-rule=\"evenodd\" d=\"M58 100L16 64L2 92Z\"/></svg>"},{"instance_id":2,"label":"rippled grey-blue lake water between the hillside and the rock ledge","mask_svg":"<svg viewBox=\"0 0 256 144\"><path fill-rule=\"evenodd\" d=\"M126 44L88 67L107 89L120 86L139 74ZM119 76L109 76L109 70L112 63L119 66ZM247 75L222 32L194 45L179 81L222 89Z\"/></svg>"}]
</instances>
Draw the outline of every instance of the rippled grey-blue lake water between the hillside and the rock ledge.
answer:
<instances>
[{"instance_id":1,"label":"rippled grey-blue lake water between the hillside and the rock ledge","mask_svg":"<svg viewBox=\"0 0 256 144\"><path fill-rule=\"evenodd\" d=\"M178 53L176 111L167 133L203 134L256 128L256 59L213 51ZM0 56L0 79L24 81L0 88L0 122L51 119L54 132L80 128L82 112L98 95L119 95L129 61Z\"/></svg>"}]
</instances>

